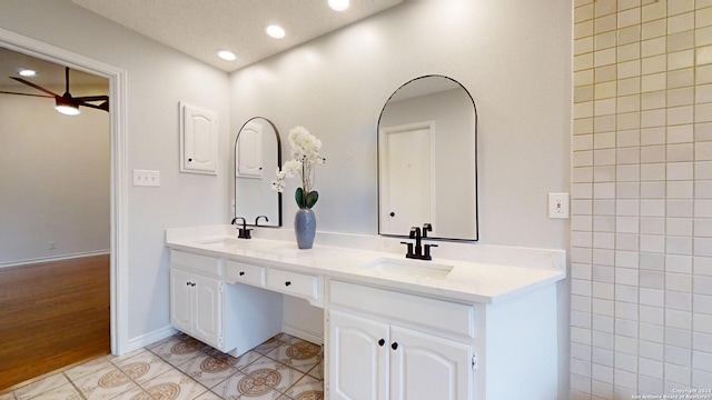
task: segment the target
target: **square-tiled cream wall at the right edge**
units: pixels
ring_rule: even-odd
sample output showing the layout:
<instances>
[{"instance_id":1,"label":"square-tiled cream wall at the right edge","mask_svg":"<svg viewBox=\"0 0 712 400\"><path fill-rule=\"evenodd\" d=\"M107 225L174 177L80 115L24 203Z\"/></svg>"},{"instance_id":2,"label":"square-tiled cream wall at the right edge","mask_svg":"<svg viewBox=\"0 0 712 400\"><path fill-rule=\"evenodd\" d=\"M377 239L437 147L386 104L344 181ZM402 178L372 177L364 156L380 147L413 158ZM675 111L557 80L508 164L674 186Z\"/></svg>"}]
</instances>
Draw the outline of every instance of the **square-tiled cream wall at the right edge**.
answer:
<instances>
[{"instance_id":1,"label":"square-tiled cream wall at the right edge","mask_svg":"<svg viewBox=\"0 0 712 400\"><path fill-rule=\"evenodd\" d=\"M571 399L712 388L712 0L574 0Z\"/></svg>"}]
</instances>

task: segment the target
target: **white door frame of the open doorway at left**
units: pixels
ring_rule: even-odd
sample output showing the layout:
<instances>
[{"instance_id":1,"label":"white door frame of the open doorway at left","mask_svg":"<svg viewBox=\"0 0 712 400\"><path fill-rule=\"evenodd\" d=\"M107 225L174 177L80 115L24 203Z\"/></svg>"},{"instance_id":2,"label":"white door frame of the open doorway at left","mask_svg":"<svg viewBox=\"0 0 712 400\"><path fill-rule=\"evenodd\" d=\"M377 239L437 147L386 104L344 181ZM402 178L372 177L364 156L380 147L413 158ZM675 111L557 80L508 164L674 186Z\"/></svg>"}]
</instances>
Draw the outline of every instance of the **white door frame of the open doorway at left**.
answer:
<instances>
[{"instance_id":1,"label":"white door frame of the open doorway at left","mask_svg":"<svg viewBox=\"0 0 712 400\"><path fill-rule=\"evenodd\" d=\"M2 28L0 46L109 80L111 353L120 356L129 351L127 71Z\"/></svg>"}]
</instances>

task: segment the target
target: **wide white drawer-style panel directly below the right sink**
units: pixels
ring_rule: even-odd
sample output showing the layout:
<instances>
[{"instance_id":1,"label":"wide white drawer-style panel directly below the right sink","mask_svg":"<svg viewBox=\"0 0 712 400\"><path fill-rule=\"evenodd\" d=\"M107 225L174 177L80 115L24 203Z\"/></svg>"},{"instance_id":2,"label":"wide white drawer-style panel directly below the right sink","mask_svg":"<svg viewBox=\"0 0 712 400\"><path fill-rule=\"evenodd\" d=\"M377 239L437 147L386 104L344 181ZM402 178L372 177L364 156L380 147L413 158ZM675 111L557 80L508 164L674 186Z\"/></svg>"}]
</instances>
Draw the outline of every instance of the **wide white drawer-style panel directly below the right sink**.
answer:
<instances>
[{"instance_id":1,"label":"wide white drawer-style panel directly below the right sink","mask_svg":"<svg viewBox=\"0 0 712 400\"><path fill-rule=\"evenodd\" d=\"M441 332L475 337L473 306L329 281L329 304Z\"/></svg>"}]
</instances>

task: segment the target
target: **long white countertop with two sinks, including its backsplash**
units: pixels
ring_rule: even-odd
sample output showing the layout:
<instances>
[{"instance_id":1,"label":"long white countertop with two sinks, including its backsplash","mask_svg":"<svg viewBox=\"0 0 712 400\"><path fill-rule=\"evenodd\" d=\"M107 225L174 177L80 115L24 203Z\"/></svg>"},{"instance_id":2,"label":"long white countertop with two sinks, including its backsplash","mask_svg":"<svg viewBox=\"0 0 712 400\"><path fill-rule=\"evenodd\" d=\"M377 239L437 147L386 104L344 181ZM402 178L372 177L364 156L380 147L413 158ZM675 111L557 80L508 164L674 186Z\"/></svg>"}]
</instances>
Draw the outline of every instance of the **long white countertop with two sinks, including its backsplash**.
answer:
<instances>
[{"instance_id":1,"label":"long white countertop with two sinks, including its backsplash","mask_svg":"<svg viewBox=\"0 0 712 400\"><path fill-rule=\"evenodd\" d=\"M205 256L228 258L268 268L323 274L327 278L362 282L386 289L463 302L493 303L502 301L523 291L553 284L563 280L566 276L565 253L563 250L522 250L522 248L487 246L482 248L483 246L481 244L464 244L468 246L471 251L486 251L490 258L494 259L496 257L492 257L492 253L502 253L505 261L504 263L497 263L496 260L473 262L448 259L447 254L441 249L434 249L438 251L438 254L443 256L434 254L433 261L412 260L412 262L423 263L424 267L443 266L448 269L452 267L452 270L443 278L429 278L384 272L364 267L379 259L406 260L404 246L399 246L403 254L383 250L363 250L317 243L313 249L300 250L294 240L236 239L235 234L230 234L234 229L235 227L229 226L169 229L166 231L166 244L172 249ZM319 237L317 237L318 239ZM403 239L393 240L400 241ZM335 242L337 240L323 241ZM537 257L535 254L536 251L547 253L543 257ZM532 257L522 257L526 256L526 252L531 252ZM511 257L507 257L507 253L523 253L518 254L523 264L512 264ZM462 254L459 258L463 258ZM468 257L464 258L467 259ZM482 257L469 258L478 259ZM544 264L541 264L541 262L536 264L537 260L546 261Z\"/></svg>"}]
</instances>

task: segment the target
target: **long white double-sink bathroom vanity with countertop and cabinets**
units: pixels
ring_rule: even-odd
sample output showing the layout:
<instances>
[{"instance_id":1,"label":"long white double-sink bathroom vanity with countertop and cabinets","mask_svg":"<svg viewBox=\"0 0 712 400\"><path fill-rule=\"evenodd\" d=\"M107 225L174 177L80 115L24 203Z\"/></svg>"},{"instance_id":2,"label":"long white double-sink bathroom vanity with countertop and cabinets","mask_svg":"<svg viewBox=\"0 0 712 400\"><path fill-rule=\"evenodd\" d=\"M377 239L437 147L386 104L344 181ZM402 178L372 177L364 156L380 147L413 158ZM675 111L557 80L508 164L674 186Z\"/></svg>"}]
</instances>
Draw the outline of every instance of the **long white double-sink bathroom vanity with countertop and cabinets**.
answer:
<instances>
[{"instance_id":1,"label":"long white double-sink bathroom vanity with countertop and cabinets","mask_svg":"<svg viewBox=\"0 0 712 400\"><path fill-rule=\"evenodd\" d=\"M563 251L441 243L422 261L393 238L299 250L284 234L167 230L171 324L240 356L280 331L291 296L324 310L327 399L557 397Z\"/></svg>"}]
</instances>

